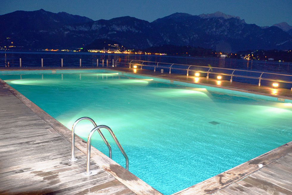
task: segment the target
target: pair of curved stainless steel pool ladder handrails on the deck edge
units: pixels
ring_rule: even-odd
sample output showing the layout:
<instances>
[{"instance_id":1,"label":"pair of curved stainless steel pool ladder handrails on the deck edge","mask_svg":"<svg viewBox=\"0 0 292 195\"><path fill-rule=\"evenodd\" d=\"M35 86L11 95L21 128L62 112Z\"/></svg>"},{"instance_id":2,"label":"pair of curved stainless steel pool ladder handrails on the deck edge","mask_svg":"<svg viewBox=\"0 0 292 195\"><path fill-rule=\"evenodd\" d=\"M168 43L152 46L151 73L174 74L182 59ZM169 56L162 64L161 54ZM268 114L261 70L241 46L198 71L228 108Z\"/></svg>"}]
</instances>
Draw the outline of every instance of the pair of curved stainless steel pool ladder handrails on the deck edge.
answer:
<instances>
[{"instance_id":1,"label":"pair of curved stainless steel pool ladder handrails on the deck edge","mask_svg":"<svg viewBox=\"0 0 292 195\"><path fill-rule=\"evenodd\" d=\"M104 135L102 134L102 132L100 131L100 129L107 129L111 136L113 137L113 139L115 140L115 143L117 144L118 148L120 149L121 153L124 155L125 159L126 159L126 169L129 170L129 159L127 154L125 153L124 149L122 148L121 144L119 143L117 137L115 137L115 134L113 133L113 130L110 129L108 126L106 125L99 125L97 126L96 123L94 122L94 120L92 118L89 117L81 117L79 119L77 119L75 121L75 123L72 126L72 149L71 149L71 158L69 158L68 160L71 162L74 162L77 160L77 158L74 156L75 153L75 127L77 125L77 123L79 123L81 120L89 120L94 128L90 131L88 138L87 138L87 163L86 163L86 171L85 174L86 175L90 175L91 171L90 171L90 149L91 149L91 137L93 135L93 133L95 131L97 131L99 133L99 135L102 137L102 140L104 141L104 143L107 145L107 148L109 149L109 157L110 159L112 158L112 148L110 147L110 144L108 143L107 139L104 137Z\"/></svg>"}]
</instances>

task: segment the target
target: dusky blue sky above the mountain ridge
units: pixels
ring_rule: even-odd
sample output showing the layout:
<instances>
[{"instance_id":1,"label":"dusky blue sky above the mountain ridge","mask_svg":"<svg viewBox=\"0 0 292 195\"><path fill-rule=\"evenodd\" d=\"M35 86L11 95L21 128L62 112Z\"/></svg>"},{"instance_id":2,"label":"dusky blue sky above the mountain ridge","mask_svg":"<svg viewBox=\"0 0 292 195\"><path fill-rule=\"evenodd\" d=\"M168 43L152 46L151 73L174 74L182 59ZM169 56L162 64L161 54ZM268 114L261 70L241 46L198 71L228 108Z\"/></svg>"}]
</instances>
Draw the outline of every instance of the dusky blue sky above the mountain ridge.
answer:
<instances>
[{"instance_id":1,"label":"dusky blue sky above the mountain ridge","mask_svg":"<svg viewBox=\"0 0 292 195\"><path fill-rule=\"evenodd\" d=\"M292 0L0 0L0 15L41 8L93 20L132 16L150 22L175 12L199 15L221 11L248 24L271 26L285 21L292 26Z\"/></svg>"}]
</instances>

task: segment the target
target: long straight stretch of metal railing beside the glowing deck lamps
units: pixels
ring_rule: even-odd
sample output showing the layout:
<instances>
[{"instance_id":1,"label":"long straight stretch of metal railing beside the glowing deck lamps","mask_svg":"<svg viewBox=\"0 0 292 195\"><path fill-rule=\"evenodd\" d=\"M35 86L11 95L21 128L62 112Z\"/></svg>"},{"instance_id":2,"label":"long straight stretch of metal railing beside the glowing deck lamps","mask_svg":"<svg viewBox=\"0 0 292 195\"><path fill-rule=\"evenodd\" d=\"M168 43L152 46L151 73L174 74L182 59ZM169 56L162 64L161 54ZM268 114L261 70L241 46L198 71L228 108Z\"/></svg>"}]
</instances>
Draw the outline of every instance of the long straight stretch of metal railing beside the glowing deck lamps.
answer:
<instances>
[{"instance_id":1,"label":"long straight stretch of metal railing beside the glowing deck lamps","mask_svg":"<svg viewBox=\"0 0 292 195\"><path fill-rule=\"evenodd\" d=\"M186 70L187 71L187 76L189 75L189 71L193 71L193 72L204 72L207 73L207 79L209 78L209 74L221 74L221 75L228 75L231 76L230 78L230 82L232 82L233 77L242 77L242 78L253 78L253 79L258 79L259 80L259 86L260 86L260 82L261 80L266 80L266 81L277 81L277 82L283 82L283 83L292 83L292 81L286 81L286 80L279 80L279 79L271 79L271 78L263 78L263 74L272 74L272 75L281 75L281 76L292 76L292 75L286 75L286 74L279 74L279 73L271 73L271 72L260 72L260 71L251 71L251 70L240 70L240 69L230 69L230 68L220 68L220 67L210 67L210 66L196 66L196 65L189 65L189 64L171 64L171 63L165 63L165 62L154 62L154 61L142 61L142 60L132 60L132 61L138 61L138 62L150 62L150 63L154 63L155 65L145 65L143 64L143 66L151 66L154 67L154 72L156 70L156 68L161 67L161 68L169 68L170 69L170 73L171 73L171 69L177 69L177 70ZM130 63L132 63L132 61ZM171 67L167 67L167 66L158 66L158 63L160 64L169 64L171 65ZM157 64L157 65L156 65ZM183 66L188 66L188 68L173 68L173 65L183 65ZM208 68L207 71L203 71L203 70L192 70L190 69L190 67L201 67L201 68ZM224 72L212 72L210 71L211 69L222 69L222 70L230 70L232 71L231 74L229 73L224 73ZM261 75L259 77L253 77L253 76L244 76L244 75L235 75L234 72L235 71L242 71L242 72L252 72L252 73L260 73Z\"/></svg>"}]
</instances>

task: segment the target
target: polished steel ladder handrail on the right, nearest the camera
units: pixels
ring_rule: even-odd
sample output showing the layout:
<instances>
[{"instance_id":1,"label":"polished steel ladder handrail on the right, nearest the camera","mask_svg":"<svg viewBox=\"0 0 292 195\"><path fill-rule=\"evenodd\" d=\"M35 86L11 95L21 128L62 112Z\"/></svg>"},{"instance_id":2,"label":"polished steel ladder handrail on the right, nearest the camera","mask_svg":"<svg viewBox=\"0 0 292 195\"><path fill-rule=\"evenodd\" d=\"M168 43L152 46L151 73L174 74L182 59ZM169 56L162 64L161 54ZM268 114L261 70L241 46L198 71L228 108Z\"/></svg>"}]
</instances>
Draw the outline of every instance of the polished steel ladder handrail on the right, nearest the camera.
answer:
<instances>
[{"instance_id":1,"label":"polished steel ladder handrail on the right, nearest the camera","mask_svg":"<svg viewBox=\"0 0 292 195\"><path fill-rule=\"evenodd\" d=\"M99 129L107 129L111 136L113 137L113 139L115 140L115 143L117 144L118 148L120 149L121 153L124 155L125 159L126 159L126 169L129 170L129 159L128 159L128 156L127 154L125 153L124 149L122 148L121 144L119 143L118 139L115 137L115 134L113 133L112 129L110 129L108 126L106 125L99 125L99 126L96 126L94 127L89 135L88 135L88 138L87 138L87 162L86 162L86 172L85 174L86 175L90 175L92 172L90 171L90 150L91 150L91 137L93 135L93 133L95 131L99 131Z\"/></svg>"}]
</instances>

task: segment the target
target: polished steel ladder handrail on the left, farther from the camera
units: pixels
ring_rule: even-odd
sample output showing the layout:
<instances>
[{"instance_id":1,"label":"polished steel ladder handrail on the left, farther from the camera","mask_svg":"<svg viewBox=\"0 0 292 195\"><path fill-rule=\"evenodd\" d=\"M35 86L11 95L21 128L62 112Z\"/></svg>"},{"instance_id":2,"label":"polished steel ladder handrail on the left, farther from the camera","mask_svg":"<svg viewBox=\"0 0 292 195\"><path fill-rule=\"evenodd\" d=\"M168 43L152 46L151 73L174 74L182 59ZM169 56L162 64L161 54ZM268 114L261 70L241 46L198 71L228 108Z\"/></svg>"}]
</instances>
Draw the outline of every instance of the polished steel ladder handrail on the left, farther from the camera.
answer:
<instances>
[{"instance_id":1,"label":"polished steel ladder handrail on the left, farther from the camera","mask_svg":"<svg viewBox=\"0 0 292 195\"><path fill-rule=\"evenodd\" d=\"M71 158L68 159L71 162L74 162L77 160L77 158L74 156L74 153L75 153L75 127L76 127L77 123L79 123L81 120L89 120L93 124L93 126L95 126L95 127L97 126L96 123L94 122L94 120L90 117L81 117L75 121L75 123L72 126L72 133L71 133L71 139L72 139ZM110 147L110 144L107 142L107 139L105 139L102 132L99 129L97 129L97 131L109 149L109 157L112 158L112 148Z\"/></svg>"}]
</instances>

